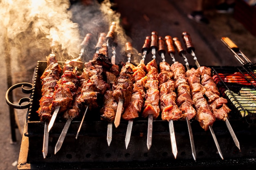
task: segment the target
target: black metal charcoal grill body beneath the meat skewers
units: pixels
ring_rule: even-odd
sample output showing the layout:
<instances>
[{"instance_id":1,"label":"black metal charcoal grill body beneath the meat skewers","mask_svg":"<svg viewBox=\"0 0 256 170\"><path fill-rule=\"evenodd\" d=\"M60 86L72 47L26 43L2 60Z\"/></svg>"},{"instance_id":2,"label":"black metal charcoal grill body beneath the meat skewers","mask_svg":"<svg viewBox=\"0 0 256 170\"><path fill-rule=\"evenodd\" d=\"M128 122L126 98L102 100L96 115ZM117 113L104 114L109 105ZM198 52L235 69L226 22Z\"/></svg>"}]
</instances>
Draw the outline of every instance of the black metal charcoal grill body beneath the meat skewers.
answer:
<instances>
[{"instance_id":1,"label":"black metal charcoal grill body beneath the meat skewers","mask_svg":"<svg viewBox=\"0 0 256 170\"><path fill-rule=\"evenodd\" d=\"M63 65L64 62L59 62ZM178 155L174 159L171 153L171 143L168 130L168 121L157 119L153 121L153 143L150 150L146 146L147 120L139 118L134 121L131 140L128 148L125 147L125 133L128 122L121 121L118 128L113 128L112 143L108 146L106 141L107 122L99 119L98 113L88 113L79 133L75 139L80 118L72 121L67 132L63 146L54 155L54 146L65 125L65 121L58 119L49 133L49 151L46 159L42 155L44 122L39 120L36 113L41 97L40 76L47 66L46 62L38 61L33 87L30 89L29 104L13 106L16 108L29 108L22 138L18 169L216 169L233 167L235 169L248 169L256 167L256 127L255 116L242 117L237 107L229 101L232 108L229 121L233 127L241 151L236 148L224 121L213 124L216 137L220 144L224 160L221 160L209 131L204 131L198 121L191 121L193 129L197 160L191 155L189 133L186 121L174 121L175 136ZM192 66L191 66L192 67ZM222 74L239 72L242 75L254 73L256 66L245 68L229 66L209 66L212 68L215 81L220 91L232 91L238 86L254 88L253 84L240 85L225 82ZM255 79L255 74L252 74ZM245 77L248 82L252 77ZM217 81L218 80L218 81ZM26 83L25 83L26 84ZM22 83L17 87L22 86ZM29 85L28 85L29 86ZM11 93L8 90L8 93ZM227 97L225 93L222 93ZM8 96L9 94L7 94ZM7 99L8 101L8 99ZM243 108L246 109L246 108Z\"/></svg>"}]
</instances>

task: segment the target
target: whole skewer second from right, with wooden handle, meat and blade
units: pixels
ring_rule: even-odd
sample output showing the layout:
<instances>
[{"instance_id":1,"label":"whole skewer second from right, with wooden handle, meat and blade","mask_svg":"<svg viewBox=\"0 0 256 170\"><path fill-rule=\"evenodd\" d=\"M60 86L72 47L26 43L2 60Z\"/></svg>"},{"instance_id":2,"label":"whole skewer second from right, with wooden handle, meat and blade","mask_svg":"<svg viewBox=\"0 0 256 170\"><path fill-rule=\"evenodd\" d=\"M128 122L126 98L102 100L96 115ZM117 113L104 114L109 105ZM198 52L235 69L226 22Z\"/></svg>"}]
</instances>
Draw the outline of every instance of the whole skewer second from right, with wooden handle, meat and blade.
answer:
<instances>
[{"instance_id":1,"label":"whole skewer second from right, with wooden handle, meat and blade","mask_svg":"<svg viewBox=\"0 0 256 170\"><path fill-rule=\"evenodd\" d=\"M185 58L186 51L183 49L180 40L178 38L173 38L173 42L175 44L175 47L176 47L179 55ZM189 71L189 70L190 70L190 68L187 69L187 71ZM198 76L196 75L196 77L198 77ZM218 154L220 155L220 158L223 159L223 155L220 150L218 140L217 140L216 135L212 128L212 125L213 125L214 121L216 120L216 118L214 117L214 115L211 111L211 107L209 106L207 99L203 95L204 90L203 90L202 86L200 86L201 85L200 84L200 76L199 76L199 79L196 77L194 80L196 82L196 84L195 83L193 83L193 85L189 84L191 88L195 85L198 85L197 86L198 88L196 88L197 91L195 91L195 88L192 88L192 90L191 90L192 100L194 102L194 107L197 111L195 118L198 120L198 122L200 123L200 126L205 131L207 131L208 129L210 130L213 140L215 142L216 148L218 150ZM189 83L191 83L191 82L189 82Z\"/></svg>"}]
</instances>

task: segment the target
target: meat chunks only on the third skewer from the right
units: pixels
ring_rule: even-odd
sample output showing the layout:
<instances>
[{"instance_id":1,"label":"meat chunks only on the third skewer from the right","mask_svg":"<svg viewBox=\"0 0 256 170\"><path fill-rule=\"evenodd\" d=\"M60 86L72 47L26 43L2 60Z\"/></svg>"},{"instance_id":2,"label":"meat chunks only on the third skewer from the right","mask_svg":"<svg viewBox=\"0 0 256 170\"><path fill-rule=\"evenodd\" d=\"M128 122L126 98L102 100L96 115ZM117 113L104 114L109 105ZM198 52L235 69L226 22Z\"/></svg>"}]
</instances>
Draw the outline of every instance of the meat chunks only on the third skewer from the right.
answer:
<instances>
[{"instance_id":1,"label":"meat chunks only on the third skewer from the right","mask_svg":"<svg viewBox=\"0 0 256 170\"><path fill-rule=\"evenodd\" d=\"M195 117L196 112L191 99L191 89L187 82L185 67L179 62L174 62L171 65L171 71L174 73L177 90L176 104L182 111L183 118L187 117L190 120Z\"/></svg>"}]
</instances>

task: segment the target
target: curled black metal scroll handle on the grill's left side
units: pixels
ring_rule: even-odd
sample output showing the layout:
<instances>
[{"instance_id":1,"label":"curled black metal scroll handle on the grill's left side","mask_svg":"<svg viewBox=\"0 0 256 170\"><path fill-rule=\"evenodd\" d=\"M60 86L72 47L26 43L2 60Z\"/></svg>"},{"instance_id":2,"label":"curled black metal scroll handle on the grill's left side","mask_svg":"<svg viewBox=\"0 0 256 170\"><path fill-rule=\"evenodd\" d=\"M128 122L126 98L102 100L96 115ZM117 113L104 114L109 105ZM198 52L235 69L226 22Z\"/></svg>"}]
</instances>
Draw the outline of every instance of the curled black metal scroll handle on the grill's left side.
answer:
<instances>
[{"instance_id":1,"label":"curled black metal scroll handle on the grill's left side","mask_svg":"<svg viewBox=\"0 0 256 170\"><path fill-rule=\"evenodd\" d=\"M29 97L22 97L20 100L19 100L19 104L13 104L13 102L10 101L9 99L9 96L11 94L11 92L16 89L16 88L19 88L21 87L22 89L22 93L25 93L25 94L29 94L29 93L32 93L33 89L34 89L34 86L33 84L31 83L27 83L27 82L22 82L22 83L17 83L17 84L14 84L13 86L11 86L10 88L8 88L8 90L6 91L6 94L5 94L5 100L6 100L6 103L13 107L13 108L17 108L17 109L25 109L25 108L29 108L29 105L30 103L32 102L32 99L29 98ZM25 87L29 87L29 88L25 88ZM28 102L27 104L23 104L24 102Z\"/></svg>"}]
</instances>

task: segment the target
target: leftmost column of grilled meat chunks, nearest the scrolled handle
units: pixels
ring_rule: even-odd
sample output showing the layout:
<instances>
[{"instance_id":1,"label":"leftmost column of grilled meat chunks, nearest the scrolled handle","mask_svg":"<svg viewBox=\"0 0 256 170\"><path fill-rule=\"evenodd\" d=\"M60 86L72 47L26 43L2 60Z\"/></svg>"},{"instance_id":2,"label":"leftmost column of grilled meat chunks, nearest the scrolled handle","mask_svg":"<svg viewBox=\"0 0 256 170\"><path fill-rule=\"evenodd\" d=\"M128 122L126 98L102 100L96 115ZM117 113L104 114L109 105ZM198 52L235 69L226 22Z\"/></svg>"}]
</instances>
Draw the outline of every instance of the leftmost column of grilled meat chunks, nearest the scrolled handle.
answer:
<instances>
[{"instance_id":1,"label":"leftmost column of grilled meat chunks, nearest the scrolled handle","mask_svg":"<svg viewBox=\"0 0 256 170\"><path fill-rule=\"evenodd\" d=\"M52 104L54 87L58 79L61 77L61 66L57 63L56 56L50 54L46 57L47 68L40 77L42 80L42 97L39 100L40 107L36 111L40 117L40 121L49 121L52 117L52 110L49 107Z\"/></svg>"}]
</instances>

